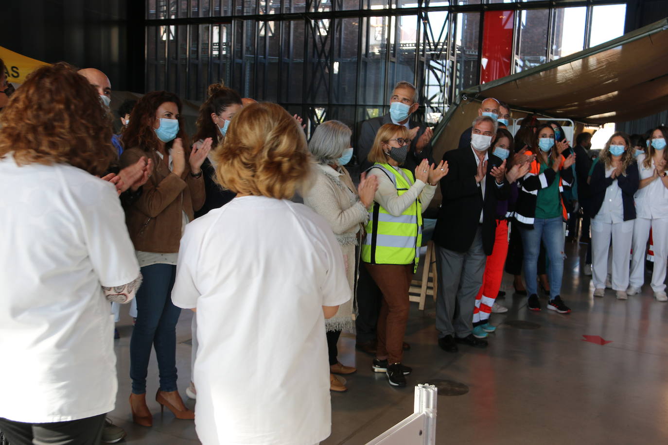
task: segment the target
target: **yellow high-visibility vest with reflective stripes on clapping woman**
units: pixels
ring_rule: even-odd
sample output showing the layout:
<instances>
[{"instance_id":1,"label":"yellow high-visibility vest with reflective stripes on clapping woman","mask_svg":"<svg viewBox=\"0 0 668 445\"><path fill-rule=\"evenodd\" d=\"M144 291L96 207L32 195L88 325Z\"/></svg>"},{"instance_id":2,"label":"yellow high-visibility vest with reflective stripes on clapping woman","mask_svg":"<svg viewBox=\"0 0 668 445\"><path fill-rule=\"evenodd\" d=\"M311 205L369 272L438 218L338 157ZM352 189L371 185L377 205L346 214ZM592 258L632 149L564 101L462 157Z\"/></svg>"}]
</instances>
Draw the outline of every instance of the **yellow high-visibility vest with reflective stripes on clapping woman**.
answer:
<instances>
[{"instance_id":1,"label":"yellow high-visibility vest with reflective stripes on clapping woman","mask_svg":"<svg viewBox=\"0 0 668 445\"><path fill-rule=\"evenodd\" d=\"M373 168L381 169L394 183L399 196L413 185L405 177L387 163L375 163ZM369 169L369 170L370 170ZM402 169L406 177L413 173ZM370 264L415 264L418 269L422 246L422 203L415 199L399 216L390 215L377 202L369 211L367 236L361 247L363 262Z\"/></svg>"}]
</instances>

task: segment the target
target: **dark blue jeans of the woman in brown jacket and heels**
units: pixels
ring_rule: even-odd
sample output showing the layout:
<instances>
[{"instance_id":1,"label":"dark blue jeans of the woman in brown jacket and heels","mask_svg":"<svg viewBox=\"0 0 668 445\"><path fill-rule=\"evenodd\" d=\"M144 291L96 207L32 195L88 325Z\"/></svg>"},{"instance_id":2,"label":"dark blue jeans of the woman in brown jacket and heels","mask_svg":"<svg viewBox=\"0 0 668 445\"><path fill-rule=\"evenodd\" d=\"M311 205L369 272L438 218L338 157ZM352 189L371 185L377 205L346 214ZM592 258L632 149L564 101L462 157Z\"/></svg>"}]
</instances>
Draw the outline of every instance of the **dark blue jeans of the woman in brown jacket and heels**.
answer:
<instances>
[{"instance_id":1,"label":"dark blue jeans of the woman in brown jacket and heels","mask_svg":"<svg viewBox=\"0 0 668 445\"><path fill-rule=\"evenodd\" d=\"M176 322L181 309L172 304L176 266L153 264L142 268L144 282L137 292L137 322L130 339L132 392L146 392L151 347L156 348L160 389L176 391Z\"/></svg>"}]
</instances>

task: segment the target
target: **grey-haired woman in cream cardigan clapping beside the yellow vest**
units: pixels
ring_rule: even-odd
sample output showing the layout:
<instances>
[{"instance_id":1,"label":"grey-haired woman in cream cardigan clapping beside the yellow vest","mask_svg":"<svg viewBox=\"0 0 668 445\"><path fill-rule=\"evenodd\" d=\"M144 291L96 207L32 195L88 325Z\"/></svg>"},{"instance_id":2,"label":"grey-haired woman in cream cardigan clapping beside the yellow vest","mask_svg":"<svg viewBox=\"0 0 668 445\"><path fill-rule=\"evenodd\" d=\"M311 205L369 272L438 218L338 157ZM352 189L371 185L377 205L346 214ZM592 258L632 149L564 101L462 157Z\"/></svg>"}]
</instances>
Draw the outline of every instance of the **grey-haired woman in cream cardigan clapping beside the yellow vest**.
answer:
<instances>
[{"instance_id":1,"label":"grey-haired woman in cream cardigan clapping beside the yellow vest","mask_svg":"<svg viewBox=\"0 0 668 445\"><path fill-rule=\"evenodd\" d=\"M343 258L351 293L355 294L356 246L359 246L363 224L369 220L369 205L378 188L375 176L362 177L357 191L348 171L343 167L353 154L350 147L352 131L343 122L327 121L318 125L309 142L309 150L317 161L317 175L313 187L304 196L304 203L324 217L336 236ZM359 252L359 250L357 250ZM335 316L325 322L329 350L330 390L343 392L345 385L334 374L352 374L351 366L337 359L337 342L342 330L353 330L355 299L339 306Z\"/></svg>"}]
</instances>

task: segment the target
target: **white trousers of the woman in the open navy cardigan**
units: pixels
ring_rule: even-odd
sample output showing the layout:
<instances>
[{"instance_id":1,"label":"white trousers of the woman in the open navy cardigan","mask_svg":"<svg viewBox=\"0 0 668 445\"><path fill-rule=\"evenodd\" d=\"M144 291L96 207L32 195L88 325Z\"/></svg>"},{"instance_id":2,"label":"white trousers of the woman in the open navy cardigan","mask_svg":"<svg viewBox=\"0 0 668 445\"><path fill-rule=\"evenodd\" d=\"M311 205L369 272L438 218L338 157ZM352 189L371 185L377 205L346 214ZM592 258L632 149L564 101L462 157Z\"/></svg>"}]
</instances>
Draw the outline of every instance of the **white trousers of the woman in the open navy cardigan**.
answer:
<instances>
[{"instance_id":1,"label":"white trousers of the woman in the open navy cardigan","mask_svg":"<svg viewBox=\"0 0 668 445\"><path fill-rule=\"evenodd\" d=\"M608 276L608 251L613 241L612 282L614 290L629 287L629 260L633 220L619 223L604 223L591 220L591 272L594 287L605 289Z\"/></svg>"}]
</instances>

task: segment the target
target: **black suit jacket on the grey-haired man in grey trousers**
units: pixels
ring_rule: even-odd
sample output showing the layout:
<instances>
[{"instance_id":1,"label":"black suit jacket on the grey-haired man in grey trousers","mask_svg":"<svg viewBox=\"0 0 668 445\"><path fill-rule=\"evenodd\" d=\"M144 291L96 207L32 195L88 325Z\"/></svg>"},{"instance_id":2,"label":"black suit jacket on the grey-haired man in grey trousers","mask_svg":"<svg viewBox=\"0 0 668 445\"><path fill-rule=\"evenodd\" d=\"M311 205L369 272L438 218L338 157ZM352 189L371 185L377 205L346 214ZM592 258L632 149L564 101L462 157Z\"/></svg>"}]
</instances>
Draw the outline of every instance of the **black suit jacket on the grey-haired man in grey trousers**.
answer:
<instances>
[{"instance_id":1,"label":"black suit jacket on the grey-haired man in grey trousers","mask_svg":"<svg viewBox=\"0 0 668 445\"><path fill-rule=\"evenodd\" d=\"M496 232L496 203L508 199L510 184L504 178L503 185L496 185L490 175L492 165L501 165L502 160L488 153L485 196L476 183L476 155L469 148L446 151L443 159L448 161L450 171L441 179L443 201L434 229L434 242L448 250L466 252L471 248L482 215L482 244L486 255L492 254Z\"/></svg>"}]
</instances>

